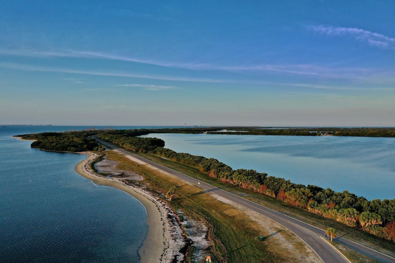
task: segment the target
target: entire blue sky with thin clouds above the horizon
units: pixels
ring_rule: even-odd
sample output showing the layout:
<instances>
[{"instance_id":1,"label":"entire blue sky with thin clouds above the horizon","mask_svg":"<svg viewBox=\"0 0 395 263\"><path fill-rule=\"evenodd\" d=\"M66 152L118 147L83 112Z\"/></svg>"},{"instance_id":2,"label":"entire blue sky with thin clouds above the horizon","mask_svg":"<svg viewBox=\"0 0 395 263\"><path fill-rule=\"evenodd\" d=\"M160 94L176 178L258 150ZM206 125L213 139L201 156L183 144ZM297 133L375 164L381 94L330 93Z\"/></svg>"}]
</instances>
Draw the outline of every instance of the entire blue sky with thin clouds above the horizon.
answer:
<instances>
[{"instance_id":1,"label":"entire blue sky with thin clouds above the horizon","mask_svg":"<svg viewBox=\"0 0 395 263\"><path fill-rule=\"evenodd\" d=\"M394 1L2 1L0 123L395 126Z\"/></svg>"}]
</instances>

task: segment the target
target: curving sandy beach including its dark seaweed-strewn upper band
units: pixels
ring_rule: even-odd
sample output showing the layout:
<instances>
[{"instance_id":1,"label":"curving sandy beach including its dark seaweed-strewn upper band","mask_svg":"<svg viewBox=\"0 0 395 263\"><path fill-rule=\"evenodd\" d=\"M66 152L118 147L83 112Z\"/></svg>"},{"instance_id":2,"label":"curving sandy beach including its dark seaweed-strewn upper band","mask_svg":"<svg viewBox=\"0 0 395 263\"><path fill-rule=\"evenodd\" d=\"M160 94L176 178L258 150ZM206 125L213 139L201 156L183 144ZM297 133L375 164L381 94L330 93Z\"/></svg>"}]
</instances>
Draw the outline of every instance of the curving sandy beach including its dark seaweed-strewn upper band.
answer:
<instances>
[{"instance_id":1,"label":"curving sandy beach including its dark seaweed-strewn upper band","mask_svg":"<svg viewBox=\"0 0 395 263\"><path fill-rule=\"evenodd\" d=\"M79 162L74 170L79 175L92 180L97 185L105 185L122 190L139 200L147 211L148 233L139 254L142 263L180 262L184 255L179 250L186 245L181 226L170 207L162 200L140 187L122 181L117 177L97 175L89 164L97 155L83 152L87 159Z\"/></svg>"}]
</instances>

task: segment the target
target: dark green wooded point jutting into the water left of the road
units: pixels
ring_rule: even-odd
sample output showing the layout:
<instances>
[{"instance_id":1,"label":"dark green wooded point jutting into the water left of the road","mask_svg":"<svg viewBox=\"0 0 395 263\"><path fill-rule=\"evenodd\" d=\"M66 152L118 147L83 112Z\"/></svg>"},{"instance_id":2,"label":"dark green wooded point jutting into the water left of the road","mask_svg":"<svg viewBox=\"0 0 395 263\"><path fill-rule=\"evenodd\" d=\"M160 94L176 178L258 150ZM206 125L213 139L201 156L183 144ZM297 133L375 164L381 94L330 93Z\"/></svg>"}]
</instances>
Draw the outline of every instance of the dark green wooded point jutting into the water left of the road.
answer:
<instances>
[{"instance_id":1,"label":"dark green wooded point jutting into the water left of the road","mask_svg":"<svg viewBox=\"0 0 395 263\"><path fill-rule=\"evenodd\" d=\"M70 131L70 132L42 132L38 134L17 135L24 140L37 140L31 144L34 148L47 151L98 151L103 148L94 139L88 136L94 135L93 131Z\"/></svg>"}]
</instances>

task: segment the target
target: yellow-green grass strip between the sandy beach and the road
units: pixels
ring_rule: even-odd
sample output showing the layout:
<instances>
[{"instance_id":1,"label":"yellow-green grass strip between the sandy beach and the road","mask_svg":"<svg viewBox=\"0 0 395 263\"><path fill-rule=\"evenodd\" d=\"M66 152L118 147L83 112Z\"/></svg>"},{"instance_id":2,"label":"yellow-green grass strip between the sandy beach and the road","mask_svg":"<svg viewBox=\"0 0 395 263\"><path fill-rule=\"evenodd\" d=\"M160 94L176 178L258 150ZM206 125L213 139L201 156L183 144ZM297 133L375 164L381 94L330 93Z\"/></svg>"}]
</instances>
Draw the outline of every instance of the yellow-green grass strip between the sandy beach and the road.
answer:
<instances>
[{"instance_id":1,"label":"yellow-green grass strip between the sandy beach and the road","mask_svg":"<svg viewBox=\"0 0 395 263\"><path fill-rule=\"evenodd\" d=\"M150 166L136 166L137 163L114 152L107 157L119 162L117 169L129 170L143 175L144 182L130 181L144 185L147 190L161 198L169 188L176 184L176 195L168 205L179 214L180 218L188 217L203 222L208 228L208 239L211 242L209 251L214 262L297 262L298 260L281 246L273 242L270 234L265 231L243 212L235 207L217 200L207 191L186 184L150 168ZM258 235L265 235L265 241L259 241ZM193 246L187 251L187 256L193 253ZM187 261L188 262L188 261ZM189 262L194 262L189 259Z\"/></svg>"}]
</instances>

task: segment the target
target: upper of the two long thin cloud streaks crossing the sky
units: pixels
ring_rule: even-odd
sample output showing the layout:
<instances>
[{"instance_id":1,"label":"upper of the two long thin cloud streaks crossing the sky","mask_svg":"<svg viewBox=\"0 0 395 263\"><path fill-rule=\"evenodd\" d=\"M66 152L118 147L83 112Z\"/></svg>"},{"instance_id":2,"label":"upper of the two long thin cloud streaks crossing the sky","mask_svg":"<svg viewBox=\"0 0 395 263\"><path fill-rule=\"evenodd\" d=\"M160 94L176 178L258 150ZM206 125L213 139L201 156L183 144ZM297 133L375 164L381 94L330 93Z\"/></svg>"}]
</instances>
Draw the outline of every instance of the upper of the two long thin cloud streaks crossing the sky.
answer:
<instances>
[{"instance_id":1,"label":"upper of the two long thin cloud streaks crossing the sky","mask_svg":"<svg viewBox=\"0 0 395 263\"><path fill-rule=\"evenodd\" d=\"M372 44L373 45L373 44ZM379 45L379 43L375 43ZM32 51L32 50L9 50L0 48L0 54L15 55L15 56L34 56L34 57L73 57L73 58L96 58L107 60L128 61L135 63L145 63L160 67L173 67L190 70L201 71L255 71L255 72L272 72L272 73L287 73L294 75L310 75L323 76L329 78L355 78L371 69L363 68L348 68L336 67L329 68L315 64L261 64L261 65L215 65L209 63L181 63L181 62L163 62L157 60L144 60L138 58L131 58L127 56L117 56L105 54L101 52L91 51L73 51L73 50L57 50L57 51Z\"/></svg>"}]
</instances>

